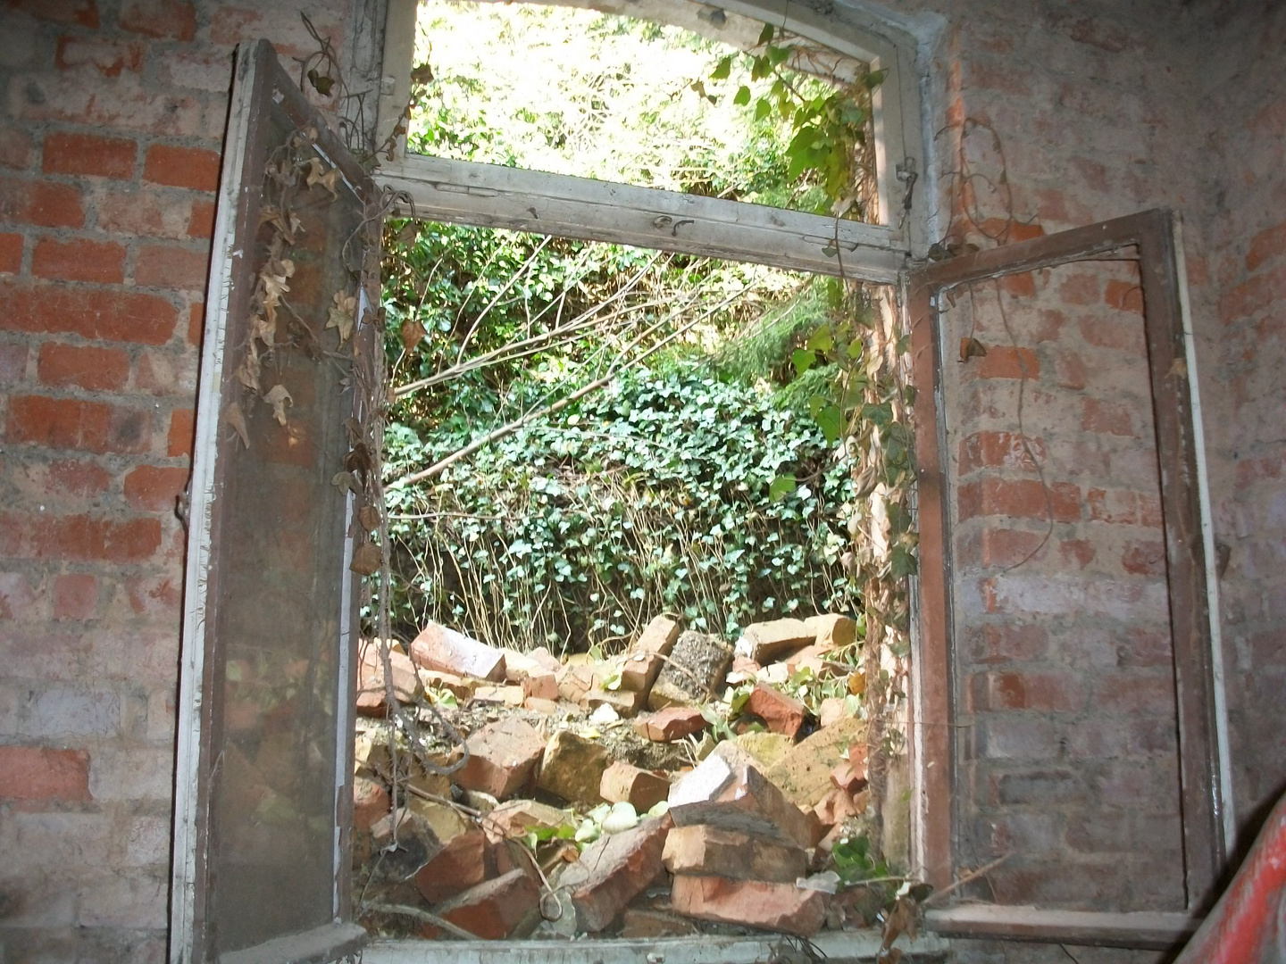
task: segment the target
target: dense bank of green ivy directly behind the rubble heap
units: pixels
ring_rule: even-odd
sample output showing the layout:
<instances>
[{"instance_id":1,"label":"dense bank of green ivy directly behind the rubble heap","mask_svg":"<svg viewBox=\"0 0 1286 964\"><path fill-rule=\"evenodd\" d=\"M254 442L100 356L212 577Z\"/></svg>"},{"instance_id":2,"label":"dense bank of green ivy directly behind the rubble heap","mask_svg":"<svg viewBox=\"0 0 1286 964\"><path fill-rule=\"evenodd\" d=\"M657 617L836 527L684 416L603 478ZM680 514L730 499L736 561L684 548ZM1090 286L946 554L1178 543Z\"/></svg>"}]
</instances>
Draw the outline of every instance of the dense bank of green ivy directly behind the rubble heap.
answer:
<instances>
[{"instance_id":1,"label":"dense bank of green ivy directly behind the rubble heap","mask_svg":"<svg viewBox=\"0 0 1286 964\"><path fill-rule=\"evenodd\" d=\"M392 474L487 431L460 411L387 433ZM808 479L773 492L783 474ZM661 612L733 635L755 620L853 607L840 558L851 478L763 386L674 364L622 375L458 463L390 492L394 616L505 645L584 650Z\"/></svg>"}]
</instances>

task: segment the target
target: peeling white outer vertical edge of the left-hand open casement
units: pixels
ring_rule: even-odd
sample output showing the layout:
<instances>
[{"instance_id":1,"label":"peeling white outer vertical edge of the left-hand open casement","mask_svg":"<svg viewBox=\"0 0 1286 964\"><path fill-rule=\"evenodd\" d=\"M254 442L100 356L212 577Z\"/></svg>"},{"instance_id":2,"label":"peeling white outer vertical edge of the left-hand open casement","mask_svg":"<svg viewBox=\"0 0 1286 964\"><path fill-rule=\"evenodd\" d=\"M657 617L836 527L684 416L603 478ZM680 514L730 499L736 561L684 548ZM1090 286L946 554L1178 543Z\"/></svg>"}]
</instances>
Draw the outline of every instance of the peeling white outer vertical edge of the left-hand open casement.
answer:
<instances>
[{"instance_id":1,"label":"peeling white outer vertical edge of the left-hand open casement","mask_svg":"<svg viewBox=\"0 0 1286 964\"><path fill-rule=\"evenodd\" d=\"M184 581L183 643L179 658L177 754L175 761L174 856L170 897L170 961L185 964L192 954L195 919L197 812L201 766L202 677L206 658L206 585L210 575L210 530L215 491L215 461L222 411L224 342L228 333L226 292L233 266L244 252L234 251L237 213L246 144L249 135L255 89L253 46L242 45L237 57L224 170L216 204L210 288L206 296L204 348L197 392L195 441L188 513L188 573Z\"/></svg>"}]
</instances>

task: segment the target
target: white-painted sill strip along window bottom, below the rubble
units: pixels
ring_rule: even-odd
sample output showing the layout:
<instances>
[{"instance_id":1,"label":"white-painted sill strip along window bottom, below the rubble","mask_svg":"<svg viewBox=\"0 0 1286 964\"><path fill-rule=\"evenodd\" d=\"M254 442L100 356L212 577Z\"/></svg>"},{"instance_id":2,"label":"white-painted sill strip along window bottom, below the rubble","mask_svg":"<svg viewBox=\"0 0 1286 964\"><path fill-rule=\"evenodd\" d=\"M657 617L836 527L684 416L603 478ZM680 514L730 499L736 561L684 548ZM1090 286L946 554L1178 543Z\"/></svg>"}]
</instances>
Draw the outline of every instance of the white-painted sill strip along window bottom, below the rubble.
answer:
<instances>
[{"instance_id":1,"label":"white-painted sill strip along window bottom, below the rubble","mask_svg":"<svg viewBox=\"0 0 1286 964\"><path fill-rule=\"evenodd\" d=\"M790 940L790 938L784 938ZM756 964L775 960L782 937L660 937L590 941L378 941L363 951L363 964ZM832 960L874 960L878 931L831 931L813 943ZM904 954L941 955L949 943L935 934L909 941L899 937Z\"/></svg>"}]
</instances>

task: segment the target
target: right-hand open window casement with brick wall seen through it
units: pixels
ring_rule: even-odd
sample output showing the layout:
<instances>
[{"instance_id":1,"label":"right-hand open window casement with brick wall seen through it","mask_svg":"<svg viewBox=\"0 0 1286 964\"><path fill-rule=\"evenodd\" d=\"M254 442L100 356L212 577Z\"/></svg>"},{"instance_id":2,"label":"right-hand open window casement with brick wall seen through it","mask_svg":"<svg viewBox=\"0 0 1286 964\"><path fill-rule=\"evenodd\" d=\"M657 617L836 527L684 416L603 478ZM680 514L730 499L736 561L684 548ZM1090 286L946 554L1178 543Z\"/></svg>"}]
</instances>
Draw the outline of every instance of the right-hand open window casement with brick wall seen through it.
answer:
<instances>
[{"instance_id":1,"label":"right-hand open window casement with brick wall seen through it","mask_svg":"<svg viewBox=\"0 0 1286 964\"><path fill-rule=\"evenodd\" d=\"M939 889L993 868L928 924L1169 947L1231 825L1177 220L931 262L908 289L916 856Z\"/></svg>"}]
</instances>

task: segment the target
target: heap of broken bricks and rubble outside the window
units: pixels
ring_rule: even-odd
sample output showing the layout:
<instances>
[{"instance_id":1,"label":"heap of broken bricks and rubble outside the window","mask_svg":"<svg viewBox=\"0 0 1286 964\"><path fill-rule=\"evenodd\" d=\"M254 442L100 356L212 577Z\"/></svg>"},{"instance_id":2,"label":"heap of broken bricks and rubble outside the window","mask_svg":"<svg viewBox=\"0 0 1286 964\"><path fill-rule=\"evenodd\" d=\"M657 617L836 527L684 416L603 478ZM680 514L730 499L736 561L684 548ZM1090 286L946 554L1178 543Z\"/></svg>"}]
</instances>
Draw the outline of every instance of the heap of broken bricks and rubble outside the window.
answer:
<instances>
[{"instance_id":1,"label":"heap of broken bricks and rubble outside the window","mask_svg":"<svg viewBox=\"0 0 1286 964\"><path fill-rule=\"evenodd\" d=\"M781 689L802 667L849 676L854 641L844 616L756 623L736 649L657 617L620 657L559 661L431 623L388 661L403 716L427 721L432 702L463 735L450 774L436 771L458 745L390 749L385 663L365 644L355 902L377 910L363 922L430 938L868 925L828 869L862 829L865 725L844 698L815 719Z\"/></svg>"}]
</instances>

